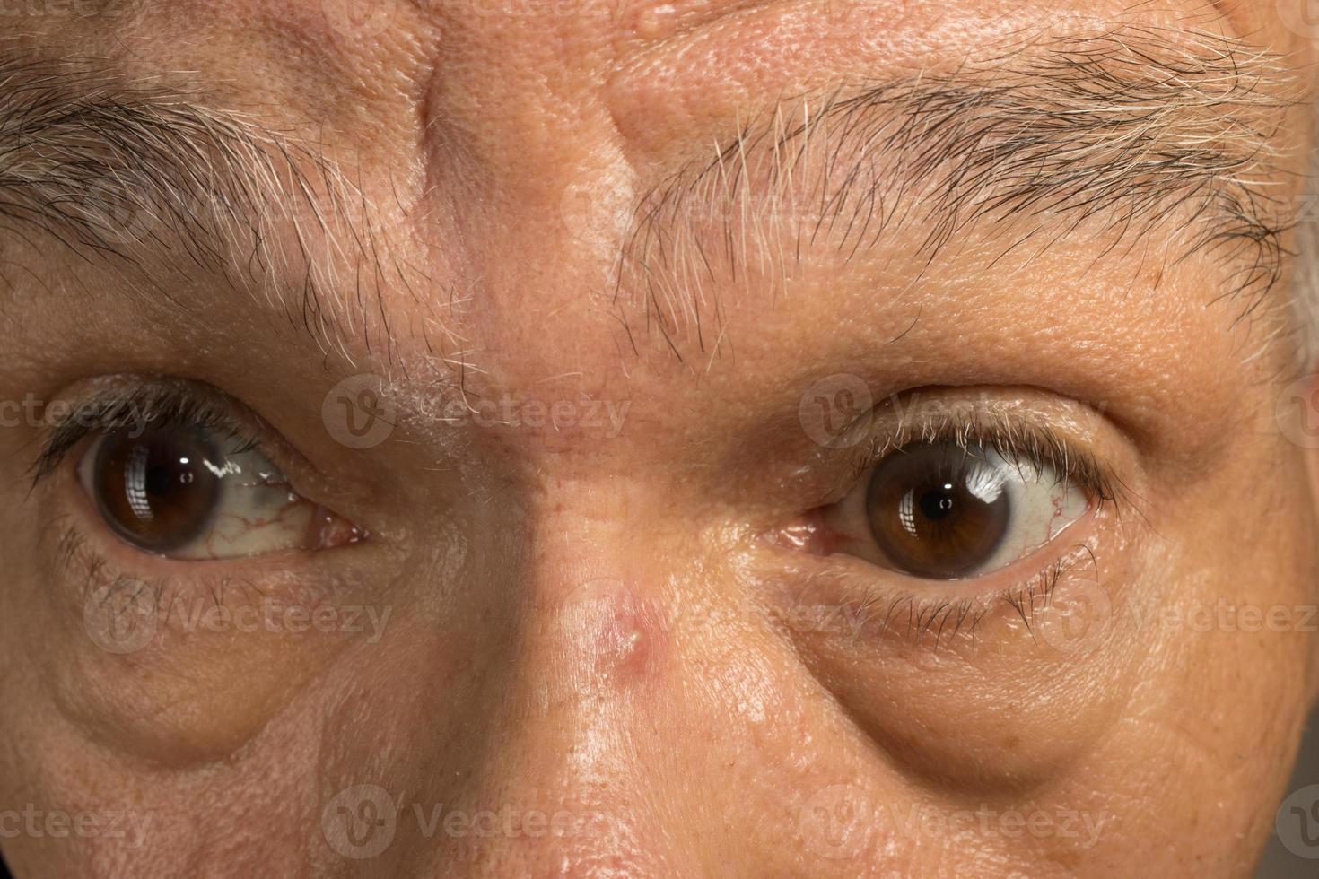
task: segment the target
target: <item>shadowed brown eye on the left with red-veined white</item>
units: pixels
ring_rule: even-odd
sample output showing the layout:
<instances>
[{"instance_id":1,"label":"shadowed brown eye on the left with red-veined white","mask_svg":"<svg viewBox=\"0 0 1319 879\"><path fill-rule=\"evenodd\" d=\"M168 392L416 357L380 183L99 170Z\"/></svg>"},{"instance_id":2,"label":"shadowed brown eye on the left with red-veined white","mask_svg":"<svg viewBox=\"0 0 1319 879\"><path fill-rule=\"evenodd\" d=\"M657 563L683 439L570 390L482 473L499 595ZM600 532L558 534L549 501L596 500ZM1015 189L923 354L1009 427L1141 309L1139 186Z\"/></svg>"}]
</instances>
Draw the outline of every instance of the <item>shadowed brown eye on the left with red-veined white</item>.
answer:
<instances>
[{"instance_id":1,"label":"shadowed brown eye on the left with red-veined white","mask_svg":"<svg viewBox=\"0 0 1319 879\"><path fill-rule=\"evenodd\" d=\"M83 453L78 474L111 531L170 559L237 559L361 538L293 492L249 443L200 426L103 434Z\"/></svg>"}]
</instances>

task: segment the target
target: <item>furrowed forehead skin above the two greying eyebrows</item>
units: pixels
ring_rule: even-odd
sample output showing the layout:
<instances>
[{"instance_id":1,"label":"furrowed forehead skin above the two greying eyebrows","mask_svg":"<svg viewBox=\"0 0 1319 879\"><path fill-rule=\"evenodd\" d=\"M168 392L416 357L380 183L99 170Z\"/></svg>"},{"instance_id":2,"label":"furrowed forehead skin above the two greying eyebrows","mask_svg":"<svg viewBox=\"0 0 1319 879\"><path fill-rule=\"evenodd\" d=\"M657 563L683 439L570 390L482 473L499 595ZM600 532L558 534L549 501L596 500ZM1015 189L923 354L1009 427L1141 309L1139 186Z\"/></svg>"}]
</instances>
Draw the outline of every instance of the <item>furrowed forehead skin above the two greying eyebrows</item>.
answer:
<instances>
[{"instance_id":1,"label":"furrowed forehead skin above the two greying eyebrows","mask_svg":"<svg viewBox=\"0 0 1319 879\"><path fill-rule=\"evenodd\" d=\"M24 16L44 57L108 58L303 136L408 198L545 169L662 177L785 96L925 75L1008 46L1125 25L1303 47L1261 3L1121 0L88 0ZM78 13L77 11L83 11ZM99 11L99 14L90 14ZM609 171L615 174L609 174ZM558 181L555 181L557 183Z\"/></svg>"}]
</instances>

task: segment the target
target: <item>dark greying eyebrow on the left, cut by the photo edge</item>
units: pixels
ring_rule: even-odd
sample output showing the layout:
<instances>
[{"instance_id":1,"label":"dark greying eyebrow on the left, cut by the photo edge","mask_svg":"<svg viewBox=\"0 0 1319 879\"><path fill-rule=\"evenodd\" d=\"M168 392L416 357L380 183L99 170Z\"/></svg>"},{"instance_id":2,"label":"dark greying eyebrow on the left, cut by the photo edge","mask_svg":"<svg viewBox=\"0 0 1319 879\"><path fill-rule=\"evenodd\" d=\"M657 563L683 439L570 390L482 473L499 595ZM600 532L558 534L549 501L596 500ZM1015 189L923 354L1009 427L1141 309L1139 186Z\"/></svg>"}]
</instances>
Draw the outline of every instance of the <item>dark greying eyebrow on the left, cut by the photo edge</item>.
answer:
<instances>
[{"instance_id":1,"label":"dark greying eyebrow on the left, cut by the photo edge","mask_svg":"<svg viewBox=\"0 0 1319 879\"><path fill-rule=\"evenodd\" d=\"M361 200L311 146L198 95L120 86L95 61L0 55L0 236L38 253L54 239L171 298L152 268L166 254L265 299L351 362L350 340L393 348L379 297L397 266L352 219ZM353 289L338 283L335 257Z\"/></svg>"}]
</instances>

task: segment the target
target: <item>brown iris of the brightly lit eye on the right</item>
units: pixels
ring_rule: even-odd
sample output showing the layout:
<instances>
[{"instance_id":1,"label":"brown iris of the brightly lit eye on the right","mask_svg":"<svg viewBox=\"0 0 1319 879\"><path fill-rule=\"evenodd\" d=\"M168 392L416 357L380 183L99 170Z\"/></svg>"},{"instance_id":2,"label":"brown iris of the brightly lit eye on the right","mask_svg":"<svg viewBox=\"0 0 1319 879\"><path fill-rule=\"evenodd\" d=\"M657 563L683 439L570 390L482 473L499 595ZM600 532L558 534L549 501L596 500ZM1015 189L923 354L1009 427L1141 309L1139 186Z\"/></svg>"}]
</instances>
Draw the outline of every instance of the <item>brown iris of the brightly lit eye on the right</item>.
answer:
<instances>
[{"instance_id":1,"label":"brown iris of the brightly lit eye on the right","mask_svg":"<svg viewBox=\"0 0 1319 879\"><path fill-rule=\"evenodd\" d=\"M976 448L919 445L888 456L867 492L880 551L901 571L954 580L985 564L1012 515L1000 468Z\"/></svg>"}]
</instances>

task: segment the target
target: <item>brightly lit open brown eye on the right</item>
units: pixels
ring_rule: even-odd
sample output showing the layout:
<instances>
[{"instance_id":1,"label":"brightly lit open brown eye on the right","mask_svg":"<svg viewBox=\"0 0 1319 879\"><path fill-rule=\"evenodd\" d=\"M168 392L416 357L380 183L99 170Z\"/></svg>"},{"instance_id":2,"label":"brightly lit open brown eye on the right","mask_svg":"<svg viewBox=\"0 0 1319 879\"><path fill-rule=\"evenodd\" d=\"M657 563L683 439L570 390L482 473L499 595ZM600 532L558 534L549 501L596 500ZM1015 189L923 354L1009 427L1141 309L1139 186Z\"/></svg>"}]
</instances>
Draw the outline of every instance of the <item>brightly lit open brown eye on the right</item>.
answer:
<instances>
[{"instance_id":1,"label":"brightly lit open brown eye on the right","mask_svg":"<svg viewBox=\"0 0 1319 879\"><path fill-rule=\"evenodd\" d=\"M840 552L959 580L1025 557L1088 509L1086 490L1047 464L977 444L919 443L885 456L824 523Z\"/></svg>"}]
</instances>

